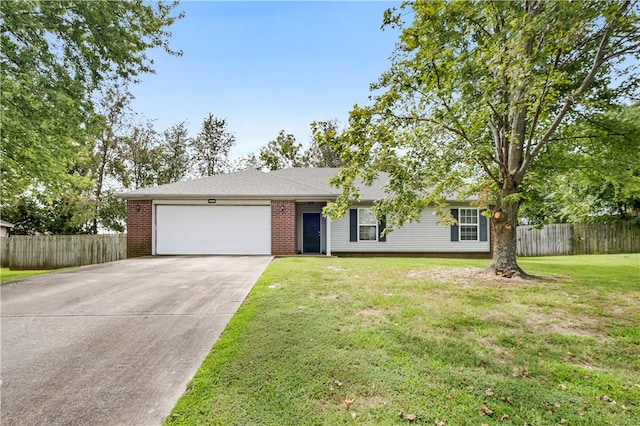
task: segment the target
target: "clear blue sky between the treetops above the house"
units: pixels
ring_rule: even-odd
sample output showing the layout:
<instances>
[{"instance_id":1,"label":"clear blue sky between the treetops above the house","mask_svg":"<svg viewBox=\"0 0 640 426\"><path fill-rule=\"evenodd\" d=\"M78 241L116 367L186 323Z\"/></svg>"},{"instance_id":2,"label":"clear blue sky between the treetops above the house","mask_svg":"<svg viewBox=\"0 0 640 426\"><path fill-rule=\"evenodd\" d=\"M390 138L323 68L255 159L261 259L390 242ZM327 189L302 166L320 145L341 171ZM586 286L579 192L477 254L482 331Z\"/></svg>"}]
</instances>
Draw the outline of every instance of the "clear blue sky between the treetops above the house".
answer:
<instances>
[{"instance_id":1,"label":"clear blue sky between the treetops above the house","mask_svg":"<svg viewBox=\"0 0 640 426\"><path fill-rule=\"evenodd\" d=\"M212 113L236 135L232 157L258 152L281 129L305 146L310 123L366 104L389 67L398 32L382 31L383 1L183 1L171 47L154 51L156 74L132 87L133 109L158 130Z\"/></svg>"}]
</instances>

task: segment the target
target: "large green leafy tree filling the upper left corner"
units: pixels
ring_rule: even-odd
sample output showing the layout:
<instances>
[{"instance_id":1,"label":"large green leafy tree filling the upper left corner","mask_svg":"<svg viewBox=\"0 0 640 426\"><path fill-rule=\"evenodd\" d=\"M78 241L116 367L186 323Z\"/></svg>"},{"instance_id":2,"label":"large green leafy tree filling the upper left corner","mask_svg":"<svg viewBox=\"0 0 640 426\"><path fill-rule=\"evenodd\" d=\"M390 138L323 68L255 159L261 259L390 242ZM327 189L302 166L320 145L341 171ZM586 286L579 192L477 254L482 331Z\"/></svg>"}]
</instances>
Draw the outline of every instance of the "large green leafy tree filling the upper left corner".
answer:
<instances>
[{"instance_id":1,"label":"large green leafy tree filling the upper left corner","mask_svg":"<svg viewBox=\"0 0 640 426\"><path fill-rule=\"evenodd\" d=\"M2 1L2 202L64 185L68 163L92 147L96 92L152 72L168 46L177 2Z\"/></svg>"}]
</instances>

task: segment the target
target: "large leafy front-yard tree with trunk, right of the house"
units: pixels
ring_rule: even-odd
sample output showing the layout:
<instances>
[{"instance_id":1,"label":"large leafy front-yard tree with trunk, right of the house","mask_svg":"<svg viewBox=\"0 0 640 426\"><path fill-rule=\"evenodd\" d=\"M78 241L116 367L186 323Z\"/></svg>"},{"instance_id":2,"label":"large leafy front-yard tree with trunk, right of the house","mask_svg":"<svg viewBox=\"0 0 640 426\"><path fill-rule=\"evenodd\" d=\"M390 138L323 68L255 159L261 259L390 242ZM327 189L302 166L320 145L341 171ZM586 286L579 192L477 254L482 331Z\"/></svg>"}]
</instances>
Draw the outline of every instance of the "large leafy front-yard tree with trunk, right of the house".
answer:
<instances>
[{"instance_id":1,"label":"large leafy front-yard tree with trunk, right of the house","mask_svg":"<svg viewBox=\"0 0 640 426\"><path fill-rule=\"evenodd\" d=\"M453 221L447 195L480 193L493 229L490 269L521 274L527 172L573 112L637 94L638 22L637 3L617 0L418 1L387 11L384 25L399 27L400 39L372 105L354 107L334 141L347 167L327 213L344 214L357 199L354 179L380 170L390 173L388 196L375 207L391 227L428 204Z\"/></svg>"}]
</instances>

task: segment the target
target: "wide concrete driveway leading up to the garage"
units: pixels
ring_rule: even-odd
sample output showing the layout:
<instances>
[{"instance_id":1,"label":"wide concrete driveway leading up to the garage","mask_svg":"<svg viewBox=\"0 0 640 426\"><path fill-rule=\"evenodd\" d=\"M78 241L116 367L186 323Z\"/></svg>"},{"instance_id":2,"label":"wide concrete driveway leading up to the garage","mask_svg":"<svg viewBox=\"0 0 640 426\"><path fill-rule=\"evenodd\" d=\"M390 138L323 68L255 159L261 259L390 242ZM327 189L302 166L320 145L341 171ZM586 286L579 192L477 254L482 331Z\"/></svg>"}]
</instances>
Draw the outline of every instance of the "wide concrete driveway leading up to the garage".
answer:
<instances>
[{"instance_id":1,"label":"wide concrete driveway leading up to the garage","mask_svg":"<svg viewBox=\"0 0 640 426\"><path fill-rule=\"evenodd\" d=\"M3 285L0 424L160 424L271 259L149 257Z\"/></svg>"}]
</instances>

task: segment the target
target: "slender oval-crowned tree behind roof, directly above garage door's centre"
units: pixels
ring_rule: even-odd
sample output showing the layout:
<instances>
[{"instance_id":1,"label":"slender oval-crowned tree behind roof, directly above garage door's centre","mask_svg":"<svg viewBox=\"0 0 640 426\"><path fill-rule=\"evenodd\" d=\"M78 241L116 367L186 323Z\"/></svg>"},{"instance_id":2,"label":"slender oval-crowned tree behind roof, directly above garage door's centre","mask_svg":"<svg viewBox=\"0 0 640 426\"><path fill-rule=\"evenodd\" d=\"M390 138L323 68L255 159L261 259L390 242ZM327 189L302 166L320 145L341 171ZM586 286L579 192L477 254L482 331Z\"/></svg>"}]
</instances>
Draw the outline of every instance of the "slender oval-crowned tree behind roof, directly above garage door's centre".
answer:
<instances>
[{"instance_id":1,"label":"slender oval-crowned tree behind roof, directly above garage door's centre","mask_svg":"<svg viewBox=\"0 0 640 426\"><path fill-rule=\"evenodd\" d=\"M209 113L191 144L193 159L201 176L213 176L229 169L229 150L236 137L227 129L227 119Z\"/></svg>"}]
</instances>

